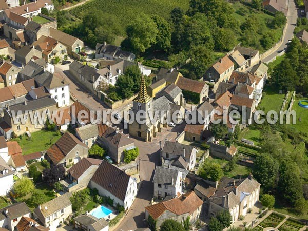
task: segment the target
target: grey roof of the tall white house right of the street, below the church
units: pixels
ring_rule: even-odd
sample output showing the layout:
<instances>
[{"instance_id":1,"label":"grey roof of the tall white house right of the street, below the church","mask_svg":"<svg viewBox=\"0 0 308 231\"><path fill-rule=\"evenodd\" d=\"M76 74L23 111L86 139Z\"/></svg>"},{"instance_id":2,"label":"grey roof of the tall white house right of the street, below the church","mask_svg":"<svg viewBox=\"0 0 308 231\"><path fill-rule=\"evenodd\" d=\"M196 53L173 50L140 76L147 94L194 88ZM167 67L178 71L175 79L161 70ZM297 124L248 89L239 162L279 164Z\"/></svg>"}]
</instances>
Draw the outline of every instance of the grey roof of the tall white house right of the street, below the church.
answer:
<instances>
[{"instance_id":1,"label":"grey roof of the tall white house right of the street, below the church","mask_svg":"<svg viewBox=\"0 0 308 231\"><path fill-rule=\"evenodd\" d=\"M156 166L153 183L175 186L179 171ZM173 182L172 182L173 178ZM173 184L172 184L173 183Z\"/></svg>"}]
</instances>

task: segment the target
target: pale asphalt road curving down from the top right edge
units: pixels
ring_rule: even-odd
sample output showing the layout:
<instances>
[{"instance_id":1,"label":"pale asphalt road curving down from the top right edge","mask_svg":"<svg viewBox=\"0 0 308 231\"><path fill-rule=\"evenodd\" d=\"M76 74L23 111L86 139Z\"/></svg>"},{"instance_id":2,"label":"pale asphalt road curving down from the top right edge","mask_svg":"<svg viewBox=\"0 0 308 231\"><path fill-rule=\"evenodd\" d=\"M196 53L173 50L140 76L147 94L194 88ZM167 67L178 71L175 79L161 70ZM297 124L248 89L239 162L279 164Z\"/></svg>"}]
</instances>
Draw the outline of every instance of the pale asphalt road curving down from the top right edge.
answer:
<instances>
[{"instance_id":1,"label":"pale asphalt road curving down from the top right edge","mask_svg":"<svg viewBox=\"0 0 308 231\"><path fill-rule=\"evenodd\" d=\"M293 0L289 0L288 5L289 6L288 6L288 13L287 13L287 25L286 25L285 34L283 37L283 42L273 53L269 54L268 56L264 57L263 60L261 60L263 63L266 63L272 60L273 57L275 57L281 51L286 49L288 40L292 40L293 38L293 31L296 27L296 20L297 20L299 11Z\"/></svg>"}]
</instances>

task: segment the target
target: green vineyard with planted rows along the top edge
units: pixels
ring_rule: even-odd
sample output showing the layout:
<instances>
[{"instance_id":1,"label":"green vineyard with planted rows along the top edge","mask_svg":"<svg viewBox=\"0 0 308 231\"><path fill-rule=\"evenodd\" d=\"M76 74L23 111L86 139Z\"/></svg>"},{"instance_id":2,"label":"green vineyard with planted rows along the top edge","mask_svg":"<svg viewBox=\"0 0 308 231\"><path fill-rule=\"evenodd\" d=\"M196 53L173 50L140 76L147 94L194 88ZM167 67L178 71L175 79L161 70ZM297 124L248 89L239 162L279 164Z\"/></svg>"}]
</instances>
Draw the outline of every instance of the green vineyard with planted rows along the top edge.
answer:
<instances>
[{"instance_id":1,"label":"green vineyard with planted rows along the top edge","mask_svg":"<svg viewBox=\"0 0 308 231\"><path fill-rule=\"evenodd\" d=\"M189 0L91 0L86 4L69 10L74 17L81 18L92 9L100 9L105 14L111 14L121 25L119 35L126 36L126 26L139 14L157 14L168 20L169 13L175 7L185 11L189 7Z\"/></svg>"}]
</instances>

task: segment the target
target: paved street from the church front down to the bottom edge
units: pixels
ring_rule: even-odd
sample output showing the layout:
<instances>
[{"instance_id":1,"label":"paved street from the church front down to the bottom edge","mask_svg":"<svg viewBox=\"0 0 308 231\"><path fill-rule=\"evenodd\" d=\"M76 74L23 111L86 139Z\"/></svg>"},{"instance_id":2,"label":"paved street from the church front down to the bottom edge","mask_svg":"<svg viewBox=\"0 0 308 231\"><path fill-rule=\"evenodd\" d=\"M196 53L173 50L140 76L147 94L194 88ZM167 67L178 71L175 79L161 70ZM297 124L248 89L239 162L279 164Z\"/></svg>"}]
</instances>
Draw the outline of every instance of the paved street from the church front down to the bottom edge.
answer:
<instances>
[{"instance_id":1,"label":"paved street from the church front down to the bottom edge","mask_svg":"<svg viewBox=\"0 0 308 231\"><path fill-rule=\"evenodd\" d=\"M134 200L128 211L128 215L124 218L116 230L128 231L135 230L136 228L147 227L143 222L143 219L145 218L144 207L148 206L153 198L154 186L152 180L155 167L160 162L159 141L162 141L163 146L166 138L168 140L176 138L177 132L181 130L183 130L183 125L178 125L175 128L163 128L163 131L158 133L158 137L153 138L153 141L148 143L132 138L140 152L139 160L141 188L138 192L136 200Z\"/></svg>"}]
</instances>

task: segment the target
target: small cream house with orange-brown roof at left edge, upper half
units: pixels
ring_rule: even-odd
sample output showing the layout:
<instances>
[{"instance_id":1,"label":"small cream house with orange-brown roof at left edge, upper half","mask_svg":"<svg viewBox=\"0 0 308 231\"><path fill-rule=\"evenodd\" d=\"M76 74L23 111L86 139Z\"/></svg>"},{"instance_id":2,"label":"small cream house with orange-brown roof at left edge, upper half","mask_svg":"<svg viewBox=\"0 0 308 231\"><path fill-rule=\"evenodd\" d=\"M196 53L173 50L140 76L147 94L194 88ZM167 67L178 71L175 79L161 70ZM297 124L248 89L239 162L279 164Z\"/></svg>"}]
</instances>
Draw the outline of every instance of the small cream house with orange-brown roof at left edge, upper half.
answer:
<instances>
[{"instance_id":1,"label":"small cream house with orange-brown roof at left edge, upper half","mask_svg":"<svg viewBox=\"0 0 308 231\"><path fill-rule=\"evenodd\" d=\"M18 72L22 69L18 68L14 64L4 61L0 66L0 75L4 80L5 86L11 86L16 83Z\"/></svg>"}]
</instances>

